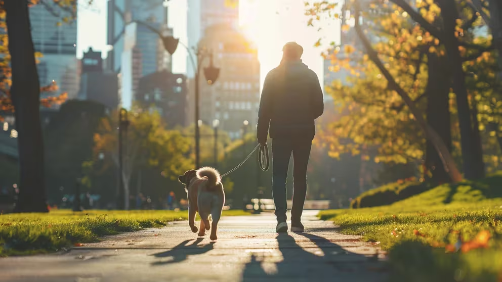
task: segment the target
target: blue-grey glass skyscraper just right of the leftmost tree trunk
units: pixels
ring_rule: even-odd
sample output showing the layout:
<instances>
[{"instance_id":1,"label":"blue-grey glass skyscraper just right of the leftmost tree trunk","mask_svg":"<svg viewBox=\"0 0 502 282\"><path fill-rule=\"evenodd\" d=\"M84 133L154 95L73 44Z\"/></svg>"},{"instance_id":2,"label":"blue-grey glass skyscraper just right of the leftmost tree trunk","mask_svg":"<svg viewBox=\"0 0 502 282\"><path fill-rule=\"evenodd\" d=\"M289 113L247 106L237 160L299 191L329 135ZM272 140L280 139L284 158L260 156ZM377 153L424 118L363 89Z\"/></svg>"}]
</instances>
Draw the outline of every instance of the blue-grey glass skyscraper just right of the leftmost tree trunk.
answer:
<instances>
[{"instance_id":1,"label":"blue-grey glass skyscraper just right of the leftmost tree trunk","mask_svg":"<svg viewBox=\"0 0 502 282\"><path fill-rule=\"evenodd\" d=\"M49 85L54 80L59 85L59 92L67 92L69 98L75 98L79 84L77 25L76 22L59 24L61 18L47 9L44 5L36 5L29 10L33 45L36 52L43 54L37 66L40 85ZM42 96L55 94L41 93Z\"/></svg>"}]
</instances>

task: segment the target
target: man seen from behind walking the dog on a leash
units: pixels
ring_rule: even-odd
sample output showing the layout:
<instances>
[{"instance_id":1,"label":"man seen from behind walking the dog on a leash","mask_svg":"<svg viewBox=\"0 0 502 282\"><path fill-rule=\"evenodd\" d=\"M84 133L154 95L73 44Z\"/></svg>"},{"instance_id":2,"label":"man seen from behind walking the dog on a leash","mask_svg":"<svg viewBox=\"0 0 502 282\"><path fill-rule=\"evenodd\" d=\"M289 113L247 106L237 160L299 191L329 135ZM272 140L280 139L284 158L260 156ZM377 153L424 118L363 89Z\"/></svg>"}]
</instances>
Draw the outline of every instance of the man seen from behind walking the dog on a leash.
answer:
<instances>
[{"instance_id":1,"label":"man seen from behind walking the dog on a leash","mask_svg":"<svg viewBox=\"0 0 502 282\"><path fill-rule=\"evenodd\" d=\"M293 199L291 231L303 232L301 222L307 195L307 165L315 119L322 115L322 88L315 72L302 63L303 48L286 43L282 61L265 78L258 112L257 138L264 145L272 138L272 195L277 217L277 232L286 232L286 178L293 154ZM269 129L270 127L270 129Z\"/></svg>"}]
</instances>

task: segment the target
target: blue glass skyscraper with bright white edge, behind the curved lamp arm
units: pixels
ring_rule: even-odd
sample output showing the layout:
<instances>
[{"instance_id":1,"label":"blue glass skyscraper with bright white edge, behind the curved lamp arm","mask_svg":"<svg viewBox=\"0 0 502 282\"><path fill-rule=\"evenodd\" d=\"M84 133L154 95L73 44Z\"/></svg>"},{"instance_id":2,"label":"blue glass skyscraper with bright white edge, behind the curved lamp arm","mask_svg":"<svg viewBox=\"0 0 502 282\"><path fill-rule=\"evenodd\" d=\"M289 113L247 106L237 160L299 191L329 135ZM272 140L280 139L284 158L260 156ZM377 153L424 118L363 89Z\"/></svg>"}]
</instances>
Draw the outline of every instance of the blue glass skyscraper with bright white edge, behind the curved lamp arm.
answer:
<instances>
[{"instance_id":1,"label":"blue glass skyscraper with bright white edge, behind the curved lamp arm","mask_svg":"<svg viewBox=\"0 0 502 282\"><path fill-rule=\"evenodd\" d=\"M160 0L109 0L108 69L120 73L121 104L129 108L135 100L140 77L171 70L171 56L157 33L172 32L167 26L167 8Z\"/></svg>"}]
</instances>

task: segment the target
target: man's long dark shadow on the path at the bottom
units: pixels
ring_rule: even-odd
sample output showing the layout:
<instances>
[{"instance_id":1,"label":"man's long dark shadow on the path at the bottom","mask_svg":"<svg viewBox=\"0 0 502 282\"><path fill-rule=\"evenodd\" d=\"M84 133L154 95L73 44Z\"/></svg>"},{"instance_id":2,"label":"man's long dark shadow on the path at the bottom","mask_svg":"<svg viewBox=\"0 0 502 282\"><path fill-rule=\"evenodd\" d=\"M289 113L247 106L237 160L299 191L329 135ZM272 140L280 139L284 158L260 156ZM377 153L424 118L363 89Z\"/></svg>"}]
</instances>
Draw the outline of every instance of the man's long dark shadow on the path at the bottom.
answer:
<instances>
[{"instance_id":1,"label":"man's long dark shadow on the path at the bottom","mask_svg":"<svg viewBox=\"0 0 502 282\"><path fill-rule=\"evenodd\" d=\"M378 262L377 257L366 257L348 252L340 245L314 234L297 234L313 242L324 255L318 256L308 252L289 234L279 234L276 240L283 260L276 263L276 272L272 274L265 272L261 265L260 256L252 254L251 261L245 265L242 272L242 281L260 281L266 278L309 278L315 280L317 277L330 277L330 280L336 280L336 275L340 273L357 276L361 266L371 267L375 272L381 270L379 266L382 265L381 262ZM302 277L302 274L305 276ZM378 275L379 273L374 274Z\"/></svg>"}]
</instances>

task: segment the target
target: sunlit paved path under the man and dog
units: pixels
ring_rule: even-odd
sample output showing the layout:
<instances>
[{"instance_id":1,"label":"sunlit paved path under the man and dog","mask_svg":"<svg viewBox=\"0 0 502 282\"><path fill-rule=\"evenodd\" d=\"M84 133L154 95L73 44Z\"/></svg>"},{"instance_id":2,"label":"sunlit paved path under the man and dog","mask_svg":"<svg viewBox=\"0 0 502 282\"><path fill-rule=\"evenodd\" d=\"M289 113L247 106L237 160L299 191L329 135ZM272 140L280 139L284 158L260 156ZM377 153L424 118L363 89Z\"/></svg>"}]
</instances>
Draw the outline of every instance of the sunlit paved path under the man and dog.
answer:
<instances>
[{"instance_id":1,"label":"sunlit paved path under the man and dog","mask_svg":"<svg viewBox=\"0 0 502 282\"><path fill-rule=\"evenodd\" d=\"M187 222L60 254L0 259L0 281L384 281L377 249L306 211L305 233L278 235L273 214L224 217L218 241Z\"/></svg>"}]
</instances>

